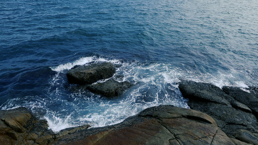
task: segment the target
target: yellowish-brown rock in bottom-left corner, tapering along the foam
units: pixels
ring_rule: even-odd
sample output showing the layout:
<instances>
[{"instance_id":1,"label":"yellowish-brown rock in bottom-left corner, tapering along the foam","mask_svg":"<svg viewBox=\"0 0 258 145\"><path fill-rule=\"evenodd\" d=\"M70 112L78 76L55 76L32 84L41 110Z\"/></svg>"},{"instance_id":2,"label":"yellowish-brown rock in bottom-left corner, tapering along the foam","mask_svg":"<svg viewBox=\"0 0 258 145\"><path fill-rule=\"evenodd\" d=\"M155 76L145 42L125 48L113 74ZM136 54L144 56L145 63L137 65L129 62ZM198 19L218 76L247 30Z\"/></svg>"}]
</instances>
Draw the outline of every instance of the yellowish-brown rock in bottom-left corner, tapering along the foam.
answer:
<instances>
[{"instance_id":1,"label":"yellowish-brown rock in bottom-left corner, tapering along the foam","mask_svg":"<svg viewBox=\"0 0 258 145\"><path fill-rule=\"evenodd\" d=\"M87 128L89 125L54 133L48 130L46 120L33 116L24 107L0 110L0 145L48 145L56 138Z\"/></svg>"}]
</instances>

